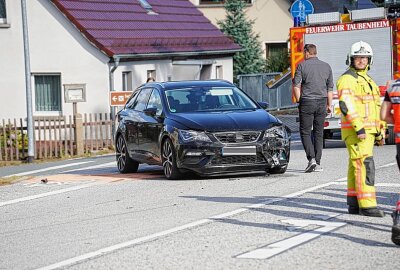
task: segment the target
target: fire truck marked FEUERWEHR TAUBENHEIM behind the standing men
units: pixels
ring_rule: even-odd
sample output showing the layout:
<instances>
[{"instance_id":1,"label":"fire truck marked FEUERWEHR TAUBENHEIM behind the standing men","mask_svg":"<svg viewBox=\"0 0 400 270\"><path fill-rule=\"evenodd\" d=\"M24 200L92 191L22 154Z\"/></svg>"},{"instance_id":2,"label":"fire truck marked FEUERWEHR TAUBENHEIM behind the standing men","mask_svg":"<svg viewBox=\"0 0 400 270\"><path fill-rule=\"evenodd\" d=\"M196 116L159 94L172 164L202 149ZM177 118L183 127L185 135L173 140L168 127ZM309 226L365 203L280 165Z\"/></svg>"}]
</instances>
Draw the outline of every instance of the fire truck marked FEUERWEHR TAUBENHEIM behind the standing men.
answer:
<instances>
[{"instance_id":1,"label":"fire truck marked FEUERWEHR TAUBENHEIM behind the standing men","mask_svg":"<svg viewBox=\"0 0 400 270\"><path fill-rule=\"evenodd\" d=\"M379 85L381 95L386 91L389 80L400 78L400 18L392 9L373 8L350 11L310 14L307 23L290 29L290 57L292 77L297 64L304 60L303 47L306 43L317 46L318 58L329 63L336 81L348 66L346 57L351 44L368 42L374 51L374 63L369 74ZM400 12L399 12L400 15ZM335 86L336 88L336 86ZM340 109L334 89L334 110L325 121L325 139L340 131ZM388 127L387 144L394 143L393 127Z\"/></svg>"}]
</instances>

